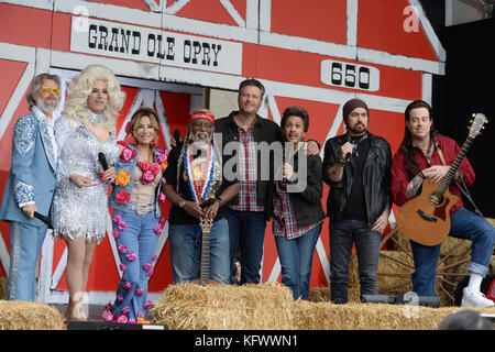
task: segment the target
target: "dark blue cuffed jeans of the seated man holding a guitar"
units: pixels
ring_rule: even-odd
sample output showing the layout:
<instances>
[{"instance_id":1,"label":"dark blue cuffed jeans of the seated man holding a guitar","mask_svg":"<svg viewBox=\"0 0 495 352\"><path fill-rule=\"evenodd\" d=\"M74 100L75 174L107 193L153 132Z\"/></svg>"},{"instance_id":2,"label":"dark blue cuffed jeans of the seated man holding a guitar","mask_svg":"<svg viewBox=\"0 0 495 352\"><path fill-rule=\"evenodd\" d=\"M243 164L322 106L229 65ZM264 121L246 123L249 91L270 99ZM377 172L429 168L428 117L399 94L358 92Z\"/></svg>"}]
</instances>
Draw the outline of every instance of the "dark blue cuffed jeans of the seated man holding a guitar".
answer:
<instances>
[{"instance_id":1,"label":"dark blue cuffed jeans of the seated man holding a guitar","mask_svg":"<svg viewBox=\"0 0 495 352\"><path fill-rule=\"evenodd\" d=\"M485 276L495 241L495 228L485 219L465 208L459 208L450 218L449 235L471 240L471 263L468 271ZM435 296L435 277L441 244L429 246L410 241L415 260L411 275L413 290L419 296Z\"/></svg>"}]
</instances>

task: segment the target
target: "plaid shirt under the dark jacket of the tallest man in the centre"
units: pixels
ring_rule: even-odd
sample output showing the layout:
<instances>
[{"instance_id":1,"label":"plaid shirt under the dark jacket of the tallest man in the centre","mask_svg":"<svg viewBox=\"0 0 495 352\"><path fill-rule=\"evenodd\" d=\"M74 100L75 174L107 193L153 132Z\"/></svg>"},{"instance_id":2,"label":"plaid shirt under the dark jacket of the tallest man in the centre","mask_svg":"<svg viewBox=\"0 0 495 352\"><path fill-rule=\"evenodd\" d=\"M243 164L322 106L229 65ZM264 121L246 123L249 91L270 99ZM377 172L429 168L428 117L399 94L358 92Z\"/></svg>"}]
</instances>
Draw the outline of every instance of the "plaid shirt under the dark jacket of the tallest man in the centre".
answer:
<instances>
[{"instance_id":1,"label":"plaid shirt under the dark jacket of the tallest man in the centre","mask_svg":"<svg viewBox=\"0 0 495 352\"><path fill-rule=\"evenodd\" d=\"M240 174L243 176L240 182L239 204L231 206L232 209L239 211L264 211L264 206L256 204L256 143L254 142L254 122L244 131L241 127L239 129L239 165Z\"/></svg>"}]
</instances>

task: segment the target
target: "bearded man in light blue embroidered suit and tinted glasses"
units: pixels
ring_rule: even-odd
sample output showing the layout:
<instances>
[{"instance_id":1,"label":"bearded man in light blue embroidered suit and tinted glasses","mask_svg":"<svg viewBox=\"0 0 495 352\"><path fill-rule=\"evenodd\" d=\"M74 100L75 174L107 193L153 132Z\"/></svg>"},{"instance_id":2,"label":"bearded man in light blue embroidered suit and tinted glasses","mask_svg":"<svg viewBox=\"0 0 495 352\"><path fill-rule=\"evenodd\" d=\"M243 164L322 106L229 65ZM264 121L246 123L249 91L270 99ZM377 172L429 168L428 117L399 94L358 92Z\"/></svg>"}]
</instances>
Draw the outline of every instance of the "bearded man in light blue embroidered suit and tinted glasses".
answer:
<instances>
[{"instance_id":1,"label":"bearded man in light blue embroidered suit and tinted glasses","mask_svg":"<svg viewBox=\"0 0 495 352\"><path fill-rule=\"evenodd\" d=\"M50 215L56 177L57 146L51 113L61 100L61 79L37 75L26 95L31 112L13 129L12 165L3 190L0 220L9 222L8 299L34 300L35 275L47 224L34 217Z\"/></svg>"}]
</instances>

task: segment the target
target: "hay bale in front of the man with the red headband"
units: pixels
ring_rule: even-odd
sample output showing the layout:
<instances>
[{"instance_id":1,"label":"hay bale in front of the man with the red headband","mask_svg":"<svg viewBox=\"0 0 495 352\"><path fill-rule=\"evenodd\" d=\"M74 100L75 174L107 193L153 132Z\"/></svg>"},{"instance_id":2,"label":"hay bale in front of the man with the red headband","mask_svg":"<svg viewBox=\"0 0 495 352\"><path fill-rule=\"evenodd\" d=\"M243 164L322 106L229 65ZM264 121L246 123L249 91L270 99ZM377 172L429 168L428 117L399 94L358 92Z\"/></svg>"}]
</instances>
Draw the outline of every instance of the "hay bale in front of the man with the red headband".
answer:
<instances>
[{"instance_id":1,"label":"hay bale in front of the man with the red headband","mask_svg":"<svg viewBox=\"0 0 495 352\"><path fill-rule=\"evenodd\" d=\"M170 285L150 310L170 330L294 329L290 289L280 284Z\"/></svg>"}]
</instances>

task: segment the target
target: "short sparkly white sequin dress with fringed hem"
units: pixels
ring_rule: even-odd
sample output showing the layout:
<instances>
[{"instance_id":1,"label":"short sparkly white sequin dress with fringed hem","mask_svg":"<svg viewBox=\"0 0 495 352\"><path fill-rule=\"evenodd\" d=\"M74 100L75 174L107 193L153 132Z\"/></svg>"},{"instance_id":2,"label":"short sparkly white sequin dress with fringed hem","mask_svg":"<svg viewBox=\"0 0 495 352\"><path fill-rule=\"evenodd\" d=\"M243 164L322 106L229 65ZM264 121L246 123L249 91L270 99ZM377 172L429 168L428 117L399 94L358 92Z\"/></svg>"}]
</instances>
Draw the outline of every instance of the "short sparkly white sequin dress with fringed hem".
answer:
<instances>
[{"instance_id":1,"label":"short sparkly white sequin dress with fringed hem","mask_svg":"<svg viewBox=\"0 0 495 352\"><path fill-rule=\"evenodd\" d=\"M62 117L55 123L55 136L62 153L61 175L52 205L53 233L55 238L85 237L86 241L100 243L107 232L109 186L100 179L99 173L103 169L98 153L105 154L109 166L116 164L119 147L114 132L102 143L81 123ZM70 174L90 176L97 185L78 188L70 182Z\"/></svg>"}]
</instances>

